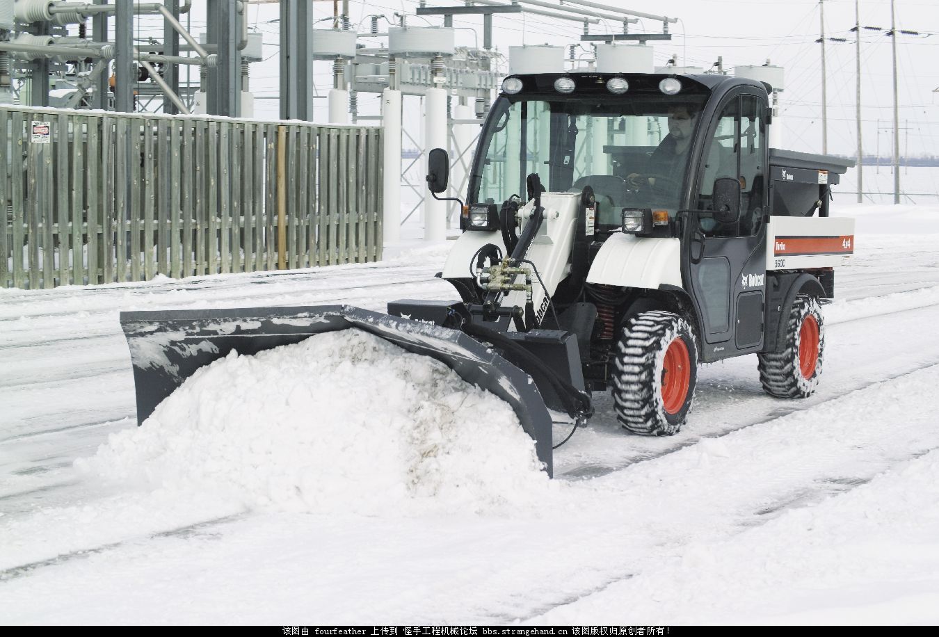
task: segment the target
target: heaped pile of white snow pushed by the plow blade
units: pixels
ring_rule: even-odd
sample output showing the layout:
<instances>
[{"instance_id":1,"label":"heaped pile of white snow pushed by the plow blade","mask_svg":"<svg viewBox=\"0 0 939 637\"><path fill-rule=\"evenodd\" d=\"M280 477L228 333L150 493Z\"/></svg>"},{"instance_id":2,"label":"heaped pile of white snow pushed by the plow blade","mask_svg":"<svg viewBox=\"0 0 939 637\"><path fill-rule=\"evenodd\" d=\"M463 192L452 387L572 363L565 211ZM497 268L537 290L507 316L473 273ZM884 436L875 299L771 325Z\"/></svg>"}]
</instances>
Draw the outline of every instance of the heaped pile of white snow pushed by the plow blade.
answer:
<instances>
[{"instance_id":1,"label":"heaped pile of white snow pushed by the plow blade","mask_svg":"<svg viewBox=\"0 0 939 637\"><path fill-rule=\"evenodd\" d=\"M233 352L78 466L250 508L364 514L479 510L547 484L507 403L357 329Z\"/></svg>"}]
</instances>

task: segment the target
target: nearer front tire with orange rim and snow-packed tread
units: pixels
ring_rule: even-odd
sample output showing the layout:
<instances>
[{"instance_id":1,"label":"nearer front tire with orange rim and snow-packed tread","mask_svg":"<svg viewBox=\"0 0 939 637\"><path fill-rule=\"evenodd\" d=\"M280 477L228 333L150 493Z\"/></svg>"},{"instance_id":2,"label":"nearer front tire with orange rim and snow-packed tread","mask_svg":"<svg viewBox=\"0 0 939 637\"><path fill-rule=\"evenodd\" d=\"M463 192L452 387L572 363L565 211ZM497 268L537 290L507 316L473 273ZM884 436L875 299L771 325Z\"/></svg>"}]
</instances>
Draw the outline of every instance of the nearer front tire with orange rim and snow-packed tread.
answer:
<instances>
[{"instance_id":1,"label":"nearer front tire with orange rim and snow-packed tread","mask_svg":"<svg viewBox=\"0 0 939 637\"><path fill-rule=\"evenodd\" d=\"M685 319L644 311L629 320L617 344L613 403L623 428L672 435L687 419L698 380L698 348Z\"/></svg>"}]
</instances>

